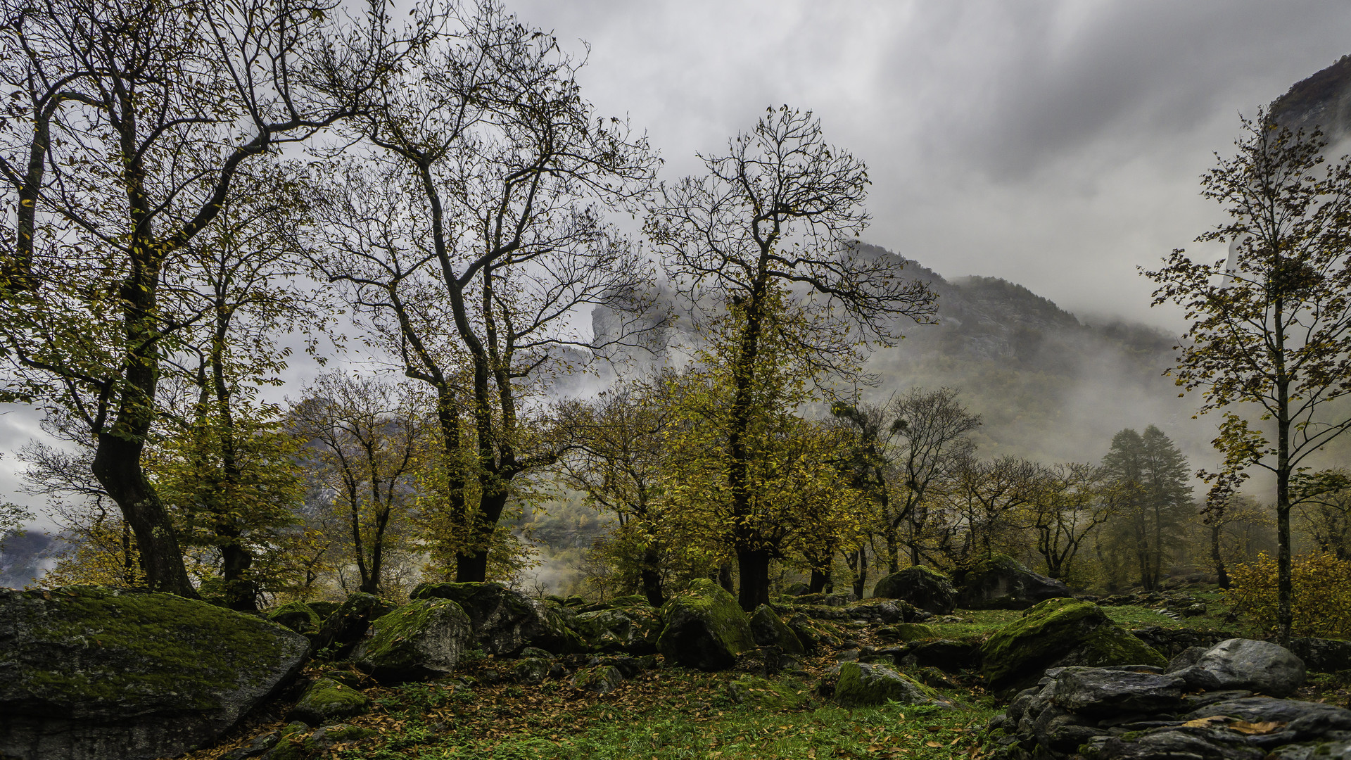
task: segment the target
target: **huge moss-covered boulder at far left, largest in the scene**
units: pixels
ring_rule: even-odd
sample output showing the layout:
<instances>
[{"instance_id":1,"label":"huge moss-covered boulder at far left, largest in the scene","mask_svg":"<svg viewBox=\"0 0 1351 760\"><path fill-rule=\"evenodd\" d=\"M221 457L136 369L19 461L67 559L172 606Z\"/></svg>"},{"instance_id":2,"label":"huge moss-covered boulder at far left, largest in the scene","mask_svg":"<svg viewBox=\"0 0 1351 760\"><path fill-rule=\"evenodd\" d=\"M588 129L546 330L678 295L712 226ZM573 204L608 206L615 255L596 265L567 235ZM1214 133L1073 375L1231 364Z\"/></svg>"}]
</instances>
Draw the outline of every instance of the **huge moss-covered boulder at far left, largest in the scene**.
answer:
<instances>
[{"instance_id":1,"label":"huge moss-covered boulder at far left, largest in the scene","mask_svg":"<svg viewBox=\"0 0 1351 760\"><path fill-rule=\"evenodd\" d=\"M259 617L172 594L0 588L0 756L182 755L286 684L308 648Z\"/></svg>"}]
</instances>

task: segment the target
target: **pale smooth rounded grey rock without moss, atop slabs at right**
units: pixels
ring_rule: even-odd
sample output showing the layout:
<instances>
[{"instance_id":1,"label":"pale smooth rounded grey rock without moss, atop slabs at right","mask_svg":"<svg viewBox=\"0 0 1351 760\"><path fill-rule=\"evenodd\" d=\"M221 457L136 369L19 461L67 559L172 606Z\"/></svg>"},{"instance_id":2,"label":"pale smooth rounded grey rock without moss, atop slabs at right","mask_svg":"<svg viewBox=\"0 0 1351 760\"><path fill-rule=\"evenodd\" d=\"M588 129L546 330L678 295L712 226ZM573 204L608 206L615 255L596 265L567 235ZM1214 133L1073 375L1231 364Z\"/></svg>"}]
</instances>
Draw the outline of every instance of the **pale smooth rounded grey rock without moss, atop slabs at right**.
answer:
<instances>
[{"instance_id":1,"label":"pale smooth rounded grey rock without moss, atop slabs at right","mask_svg":"<svg viewBox=\"0 0 1351 760\"><path fill-rule=\"evenodd\" d=\"M1304 683L1304 660L1279 644L1229 638L1208 649L1194 665L1175 672L1192 688L1246 688L1285 696Z\"/></svg>"}]
</instances>

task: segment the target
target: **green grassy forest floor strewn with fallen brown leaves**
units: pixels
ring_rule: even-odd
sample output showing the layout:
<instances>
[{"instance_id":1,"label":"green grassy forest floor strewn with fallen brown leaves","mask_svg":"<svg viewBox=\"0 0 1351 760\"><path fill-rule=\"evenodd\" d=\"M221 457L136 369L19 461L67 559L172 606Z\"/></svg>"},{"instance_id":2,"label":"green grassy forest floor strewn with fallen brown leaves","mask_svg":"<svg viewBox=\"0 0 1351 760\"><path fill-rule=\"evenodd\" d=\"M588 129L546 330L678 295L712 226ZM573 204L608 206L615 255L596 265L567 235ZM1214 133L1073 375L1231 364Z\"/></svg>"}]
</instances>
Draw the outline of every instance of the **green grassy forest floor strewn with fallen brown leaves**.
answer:
<instances>
[{"instance_id":1,"label":"green grassy forest floor strewn with fallen brown leaves","mask_svg":"<svg viewBox=\"0 0 1351 760\"><path fill-rule=\"evenodd\" d=\"M1146 607L1104 607L1124 627L1212 629L1233 636L1254 632L1227 615L1219 595L1212 613L1177 621ZM1213 599L1213 602L1212 602ZM986 636L1019 611L958 610L931 621L944 638ZM862 636L862 645L884 646ZM915 759L975 760L985 752L979 732L1002 702L981 688L979 676L951 676L939 687L958 709L913 705L843 709L816 692L820 675L836 663L834 652L804 663L811 678L771 679L761 692L732 696L728 684L743 673L704 673L685 668L646 671L609 694L573 688L565 680L538 686L466 687L492 659L467 664L443 682L411 683L363 691L374 709L347 721L374 729L372 738L334 745L322 757L338 760L751 760L751 759ZM1300 699L1347 705L1344 678L1313 676ZM211 749L184 760L216 760L266 730L285 725L289 703L262 706Z\"/></svg>"}]
</instances>

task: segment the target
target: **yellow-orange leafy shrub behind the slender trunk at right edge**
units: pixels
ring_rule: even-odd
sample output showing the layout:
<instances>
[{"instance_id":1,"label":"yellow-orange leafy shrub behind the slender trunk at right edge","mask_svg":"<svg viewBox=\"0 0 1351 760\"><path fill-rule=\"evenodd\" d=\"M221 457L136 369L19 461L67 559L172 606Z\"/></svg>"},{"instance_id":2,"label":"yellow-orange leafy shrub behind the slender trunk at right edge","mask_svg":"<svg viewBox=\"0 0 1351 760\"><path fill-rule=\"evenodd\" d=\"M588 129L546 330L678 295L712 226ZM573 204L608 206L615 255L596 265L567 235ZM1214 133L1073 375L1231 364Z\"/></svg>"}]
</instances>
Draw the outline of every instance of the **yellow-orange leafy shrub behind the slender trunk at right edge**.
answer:
<instances>
[{"instance_id":1,"label":"yellow-orange leafy shrub behind the slender trunk at right edge","mask_svg":"<svg viewBox=\"0 0 1351 760\"><path fill-rule=\"evenodd\" d=\"M1292 561L1290 633L1351 638L1351 561L1308 554ZM1229 598L1238 611L1266 632L1277 629L1277 565L1266 552L1231 571Z\"/></svg>"}]
</instances>

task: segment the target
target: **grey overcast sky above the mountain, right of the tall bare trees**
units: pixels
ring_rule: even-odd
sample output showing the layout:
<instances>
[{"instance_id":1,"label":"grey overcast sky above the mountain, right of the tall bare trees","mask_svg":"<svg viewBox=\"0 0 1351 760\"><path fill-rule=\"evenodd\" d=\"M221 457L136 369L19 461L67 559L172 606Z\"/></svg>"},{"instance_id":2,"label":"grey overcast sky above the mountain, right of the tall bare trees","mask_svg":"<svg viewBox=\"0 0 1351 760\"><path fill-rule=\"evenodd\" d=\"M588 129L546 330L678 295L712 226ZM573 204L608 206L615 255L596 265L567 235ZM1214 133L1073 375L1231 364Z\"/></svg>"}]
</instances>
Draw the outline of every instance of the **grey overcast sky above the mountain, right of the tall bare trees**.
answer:
<instances>
[{"instance_id":1,"label":"grey overcast sky above the mountain, right of the tall bare trees","mask_svg":"<svg viewBox=\"0 0 1351 760\"><path fill-rule=\"evenodd\" d=\"M584 93L698 169L765 107L867 162L865 239L1170 331L1136 273L1220 220L1239 114L1351 53L1351 3L508 0L584 51ZM1221 252L1223 254L1223 252Z\"/></svg>"}]
</instances>

